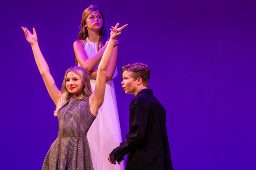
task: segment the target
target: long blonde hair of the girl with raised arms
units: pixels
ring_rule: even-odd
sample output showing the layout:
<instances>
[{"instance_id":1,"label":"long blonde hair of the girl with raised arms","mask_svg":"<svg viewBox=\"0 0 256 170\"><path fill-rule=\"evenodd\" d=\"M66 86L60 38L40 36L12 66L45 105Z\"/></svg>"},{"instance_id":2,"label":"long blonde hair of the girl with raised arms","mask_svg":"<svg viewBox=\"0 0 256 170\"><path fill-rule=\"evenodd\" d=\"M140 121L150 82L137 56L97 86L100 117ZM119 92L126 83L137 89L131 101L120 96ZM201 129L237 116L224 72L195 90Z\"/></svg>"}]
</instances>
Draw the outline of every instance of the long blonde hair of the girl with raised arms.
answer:
<instances>
[{"instance_id":1,"label":"long blonde hair of the girl with raised arms","mask_svg":"<svg viewBox=\"0 0 256 170\"><path fill-rule=\"evenodd\" d=\"M61 97L59 102L57 103L56 110L54 111L54 116L58 116L58 113L60 111L60 108L70 99L73 97L73 94L69 93L66 88L66 77L68 72L74 72L77 74L81 80L81 82L84 84L83 90L82 90L82 99L88 98L93 92L91 91L91 84L90 84L90 78L88 73L84 70L83 67L70 67L64 76L64 80L61 86Z\"/></svg>"}]
</instances>

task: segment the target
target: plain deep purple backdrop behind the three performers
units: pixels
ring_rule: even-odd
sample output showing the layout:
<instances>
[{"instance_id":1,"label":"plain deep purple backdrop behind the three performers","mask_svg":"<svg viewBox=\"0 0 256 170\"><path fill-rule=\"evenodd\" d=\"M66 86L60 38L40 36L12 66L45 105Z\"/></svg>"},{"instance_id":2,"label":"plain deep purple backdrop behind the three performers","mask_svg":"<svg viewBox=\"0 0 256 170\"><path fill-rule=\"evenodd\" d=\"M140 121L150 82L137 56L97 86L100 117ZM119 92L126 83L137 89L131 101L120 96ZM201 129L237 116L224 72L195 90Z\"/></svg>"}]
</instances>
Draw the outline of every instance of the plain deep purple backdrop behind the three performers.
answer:
<instances>
[{"instance_id":1,"label":"plain deep purple backdrop behind the three performers","mask_svg":"<svg viewBox=\"0 0 256 170\"><path fill-rule=\"evenodd\" d=\"M74 66L73 42L90 4L101 7L107 28L129 24L118 37L117 67L150 66L149 88L167 111L174 169L255 169L255 0L1 2L0 169L41 169L58 131L54 103L20 27L35 27L60 88ZM125 140L134 96L124 93L121 80L119 73Z\"/></svg>"}]
</instances>

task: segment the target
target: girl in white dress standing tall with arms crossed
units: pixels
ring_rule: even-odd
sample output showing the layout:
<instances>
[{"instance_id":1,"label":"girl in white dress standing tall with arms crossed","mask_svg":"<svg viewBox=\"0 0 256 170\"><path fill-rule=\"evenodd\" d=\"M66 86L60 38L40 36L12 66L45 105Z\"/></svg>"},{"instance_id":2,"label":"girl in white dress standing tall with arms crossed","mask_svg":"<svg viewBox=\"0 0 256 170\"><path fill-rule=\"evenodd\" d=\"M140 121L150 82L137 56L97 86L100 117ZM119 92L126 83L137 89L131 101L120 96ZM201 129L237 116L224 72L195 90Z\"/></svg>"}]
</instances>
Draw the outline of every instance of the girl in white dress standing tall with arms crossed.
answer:
<instances>
[{"instance_id":1,"label":"girl in white dress standing tall with arms crossed","mask_svg":"<svg viewBox=\"0 0 256 170\"><path fill-rule=\"evenodd\" d=\"M76 64L89 73L92 90L95 88L98 64L108 44L105 25L102 11L97 6L90 5L82 14L78 40L74 42ZM118 40L114 43L110 63L106 70L104 102L87 133L94 170L124 170L124 162L118 166L113 166L108 162L109 153L122 142L113 82L117 76L117 44Z\"/></svg>"}]
</instances>

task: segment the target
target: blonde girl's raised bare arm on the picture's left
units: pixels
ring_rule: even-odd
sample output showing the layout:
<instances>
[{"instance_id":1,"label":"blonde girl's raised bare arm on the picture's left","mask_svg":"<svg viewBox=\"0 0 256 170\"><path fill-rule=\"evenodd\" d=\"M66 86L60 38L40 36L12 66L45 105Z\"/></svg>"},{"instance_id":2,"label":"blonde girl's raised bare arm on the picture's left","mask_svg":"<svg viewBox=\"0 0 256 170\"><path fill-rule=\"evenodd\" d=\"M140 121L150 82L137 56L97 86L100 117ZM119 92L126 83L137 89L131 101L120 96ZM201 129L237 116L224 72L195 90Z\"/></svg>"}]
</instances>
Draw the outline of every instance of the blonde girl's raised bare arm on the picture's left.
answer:
<instances>
[{"instance_id":1,"label":"blonde girl's raised bare arm on the picture's left","mask_svg":"<svg viewBox=\"0 0 256 170\"><path fill-rule=\"evenodd\" d=\"M30 43L32 47L35 62L37 63L37 67L42 75L49 95L52 98L53 102L57 105L61 97L61 91L56 86L53 77L50 74L48 64L46 63L44 56L42 55L41 50L38 46L37 33L35 32L35 28L33 28L33 34L26 27L22 27L22 29L25 33L26 40Z\"/></svg>"}]
</instances>

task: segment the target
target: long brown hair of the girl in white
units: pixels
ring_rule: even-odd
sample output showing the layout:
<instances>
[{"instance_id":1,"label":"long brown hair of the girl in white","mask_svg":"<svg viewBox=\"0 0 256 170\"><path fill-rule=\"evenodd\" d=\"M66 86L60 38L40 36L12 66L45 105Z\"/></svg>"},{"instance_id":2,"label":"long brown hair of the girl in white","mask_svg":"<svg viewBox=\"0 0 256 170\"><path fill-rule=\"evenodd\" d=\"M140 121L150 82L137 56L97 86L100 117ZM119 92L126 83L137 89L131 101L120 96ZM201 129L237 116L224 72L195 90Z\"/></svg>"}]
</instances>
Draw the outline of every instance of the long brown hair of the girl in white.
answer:
<instances>
[{"instance_id":1,"label":"long brown hair of the girl in white","mask_svg":"<svg viewBox=\"0 0 256 170\"><path fill-rule=\"evenodd\" d=\"M106 33L106 21L104 19L103 13L102 13L101 9L99 9L99 7L97 7L96 5L90 5L88 8L86 8L83 11L82 21L80 24L80 31L79 31L77 40L84 40L84 39L86 39L86 37L88 37L88 30L87 30L87 27L85 27L84 25L86 24L86 18L94 11L99 11L99 13L101 13L101 16L103 19L103 26L101 28L101 31L99 32L99 41L97 44L97 51L99 51L105 45L108 37L107 37L107 33ZM78 64L78 61L76 60L76 66L77 66L77 64Z\"/></svg>"}]
</instances>

